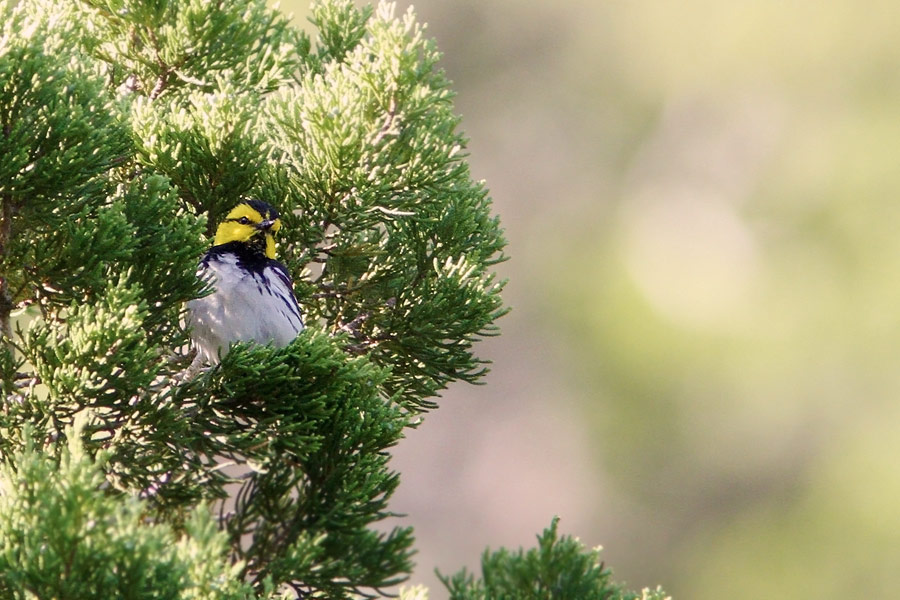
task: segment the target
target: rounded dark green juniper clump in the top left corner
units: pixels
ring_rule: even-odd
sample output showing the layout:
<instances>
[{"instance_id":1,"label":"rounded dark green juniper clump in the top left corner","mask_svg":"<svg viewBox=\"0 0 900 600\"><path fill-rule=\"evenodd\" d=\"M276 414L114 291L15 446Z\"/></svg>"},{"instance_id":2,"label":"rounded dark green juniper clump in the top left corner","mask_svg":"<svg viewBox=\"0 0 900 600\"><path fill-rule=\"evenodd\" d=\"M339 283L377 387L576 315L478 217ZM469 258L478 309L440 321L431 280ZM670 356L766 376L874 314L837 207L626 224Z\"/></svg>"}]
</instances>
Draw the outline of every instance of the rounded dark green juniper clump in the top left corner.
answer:
<instances>
[{"instance_id":1,"label":"rounded dark green juniper clump in the top left corner","mask_svg":"<svg viewBox=\"0 0 900 600\"><path fill-rule=\"evenodd\" d=\"M58 52L47 18L4 1L0 22L0 196L21 219L56 227L68 215L51 201L86 204L95 176L122 160L125 129L82 57Z\"/></svg>"}]
</instances>

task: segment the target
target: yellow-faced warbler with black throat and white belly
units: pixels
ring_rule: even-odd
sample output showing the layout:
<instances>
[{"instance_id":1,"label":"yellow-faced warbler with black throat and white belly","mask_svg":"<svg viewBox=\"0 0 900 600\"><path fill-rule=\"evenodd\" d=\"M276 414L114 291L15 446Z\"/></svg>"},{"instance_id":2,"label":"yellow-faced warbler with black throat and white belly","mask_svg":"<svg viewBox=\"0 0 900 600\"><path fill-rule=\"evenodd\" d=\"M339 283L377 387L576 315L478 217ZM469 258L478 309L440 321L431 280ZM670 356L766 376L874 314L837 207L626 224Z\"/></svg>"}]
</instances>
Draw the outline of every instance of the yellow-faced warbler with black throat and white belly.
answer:
<instances>
[{"instance_id":1,"label":"yellow-faced warbler with black throat and white belly","mask_svg":"<svg viewBox=\"0 0 900 600\"><path fill-rule=\"evenodd\" d=\"M213 292L187 304L195 364L218 364L232 342L287 346L303 329L291 276L275 260L278 211L249 199L216 229L197 275Z\"/></svg>"}]
</instances>

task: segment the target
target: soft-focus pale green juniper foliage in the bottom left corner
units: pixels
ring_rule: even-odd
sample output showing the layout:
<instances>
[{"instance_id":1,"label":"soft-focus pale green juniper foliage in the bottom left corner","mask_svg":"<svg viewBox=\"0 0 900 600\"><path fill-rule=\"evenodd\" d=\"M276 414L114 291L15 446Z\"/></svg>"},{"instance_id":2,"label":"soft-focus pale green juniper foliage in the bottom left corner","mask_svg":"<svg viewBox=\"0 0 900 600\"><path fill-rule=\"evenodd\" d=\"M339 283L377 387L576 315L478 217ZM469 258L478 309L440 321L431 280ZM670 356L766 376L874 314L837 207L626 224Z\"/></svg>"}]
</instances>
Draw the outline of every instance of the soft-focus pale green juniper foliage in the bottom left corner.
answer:
<instances>
[{"instance_id":1,"label":"soft-focus pale green juniper foliage in the bottom left corner","mask_svg":"<svg viewBox=\"0 0 900 600\"><path fill-rule=\"evenodd\" d=\"M58 460L26 438L0 466L3 598L256 597L240 564L224 561L226 536L204 507L182 531L147 523L141 502L104 491L103 471L69 434Z\"/></svg>"}]
</instances>

